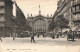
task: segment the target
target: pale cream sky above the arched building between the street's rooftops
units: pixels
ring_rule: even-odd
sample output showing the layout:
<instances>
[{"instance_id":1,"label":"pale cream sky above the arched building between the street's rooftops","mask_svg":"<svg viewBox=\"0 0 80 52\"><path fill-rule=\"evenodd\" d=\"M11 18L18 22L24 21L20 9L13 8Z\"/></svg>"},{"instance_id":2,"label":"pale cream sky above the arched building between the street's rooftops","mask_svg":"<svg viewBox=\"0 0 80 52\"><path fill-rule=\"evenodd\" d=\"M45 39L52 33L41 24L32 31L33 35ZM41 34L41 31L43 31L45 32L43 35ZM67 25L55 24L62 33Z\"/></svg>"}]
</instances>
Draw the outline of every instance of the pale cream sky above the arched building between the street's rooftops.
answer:
<instances>
[{"instance_id":1,"label":"pale cream sky above the arched building between the street's rooftops","mask_svg":"<svg viewBox=\"0 0 80 52\"><path fill-rule=\"evenodd\" d=\"M44 16L54 15L54 12L57 9L57 1L58 0L15 0L19 8L23 11L24 15L27 18L27 15L29 16L32 14L33 16L36 16L39 14L39 5L41 8L41 14ZM13 13L13 15L15 15Z\"/></svg>"}]
</instances>

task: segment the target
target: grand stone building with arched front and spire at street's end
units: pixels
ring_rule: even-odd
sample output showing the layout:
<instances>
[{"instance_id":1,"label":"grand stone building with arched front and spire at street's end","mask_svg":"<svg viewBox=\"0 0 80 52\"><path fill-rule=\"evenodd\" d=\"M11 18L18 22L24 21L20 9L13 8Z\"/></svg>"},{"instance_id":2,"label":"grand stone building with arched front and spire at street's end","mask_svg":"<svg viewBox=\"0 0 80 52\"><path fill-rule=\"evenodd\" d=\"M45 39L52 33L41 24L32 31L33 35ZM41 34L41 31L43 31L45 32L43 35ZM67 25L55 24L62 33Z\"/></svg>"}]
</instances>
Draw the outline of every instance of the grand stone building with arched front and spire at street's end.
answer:
<instances>
[{"instance_id":1,"label":"grand stone building with arched front and spire at street's end","mask_svg":"<svg viewBox=\"0 0 80 52\"><path fill-rule=\"evenodd\" d=\"M32 14L27 17L28 23L30 27L32 28L32 33L38 33L38 34L47 34L49 24L52 21L52 15L49 16L43 16L41 14L41 10L39 9L39 14L36 16L32 16Z\"/></svg>"}]
</instances>

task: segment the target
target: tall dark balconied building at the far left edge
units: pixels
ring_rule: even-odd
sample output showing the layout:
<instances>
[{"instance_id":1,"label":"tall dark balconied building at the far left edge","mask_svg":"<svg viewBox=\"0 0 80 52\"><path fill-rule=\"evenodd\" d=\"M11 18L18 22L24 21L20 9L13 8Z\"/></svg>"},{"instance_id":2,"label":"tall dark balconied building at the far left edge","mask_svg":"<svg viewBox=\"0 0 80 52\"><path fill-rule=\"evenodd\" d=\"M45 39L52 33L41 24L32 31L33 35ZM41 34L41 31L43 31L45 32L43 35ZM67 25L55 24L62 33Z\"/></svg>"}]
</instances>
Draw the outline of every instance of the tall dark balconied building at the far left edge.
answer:
<instances>
[{"instance_id":1,"label":"tall dark balconied building at the far left edge","mask_svg":"<svg viewBox=\"0 0 80 52\"><path fill-rule=\"evenodd\" d=\"M0 34L6 33L6 36L12 26L12 4L12 0L0 0Z\"/></svg>"}]
</instances>

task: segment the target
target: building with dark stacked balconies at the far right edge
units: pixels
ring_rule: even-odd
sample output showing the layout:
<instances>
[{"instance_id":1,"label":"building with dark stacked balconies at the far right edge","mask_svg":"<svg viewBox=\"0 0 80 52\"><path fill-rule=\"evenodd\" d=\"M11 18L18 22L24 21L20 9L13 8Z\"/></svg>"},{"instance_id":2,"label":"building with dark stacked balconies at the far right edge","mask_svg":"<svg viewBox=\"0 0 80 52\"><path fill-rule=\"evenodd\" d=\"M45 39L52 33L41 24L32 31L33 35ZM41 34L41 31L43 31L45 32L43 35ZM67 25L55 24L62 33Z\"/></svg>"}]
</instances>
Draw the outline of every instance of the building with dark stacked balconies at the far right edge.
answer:
<instances>
[{"instance_id":1,"label":"building with dark stacked balconies at the far right edge","mask_svg":"<svg viewBox=\"0 0 80 52\"><path fill-rule=\"evenodd\" d=\"M80 29L80 0L73 0L72 14L74 26L78 26Z\"/></svg>"}]
</instances>

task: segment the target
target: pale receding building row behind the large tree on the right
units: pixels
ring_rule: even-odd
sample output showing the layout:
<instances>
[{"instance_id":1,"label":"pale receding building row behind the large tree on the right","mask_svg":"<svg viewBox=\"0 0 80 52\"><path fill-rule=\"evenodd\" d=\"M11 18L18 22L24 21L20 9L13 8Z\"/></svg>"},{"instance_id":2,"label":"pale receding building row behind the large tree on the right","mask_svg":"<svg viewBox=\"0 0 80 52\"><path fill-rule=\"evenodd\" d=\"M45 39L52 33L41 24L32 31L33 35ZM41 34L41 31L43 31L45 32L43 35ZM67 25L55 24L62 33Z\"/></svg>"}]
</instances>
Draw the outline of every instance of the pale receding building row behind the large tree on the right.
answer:
<instances>
[{"instance_id":1,"label":"pale receding building row behind the large tree on the right","mask_svg":"<svg viewBox=\"0 0 80 52\"><path fill-rule=\"evenodd\" d=\"M57 2L57 10L53 15L53 21L56 21L60 15L69 21L69 26L72 27L72 0L59 0ZM61 32L59 27L55 28L55 33Z\"/></svg>"}]
</instances>

